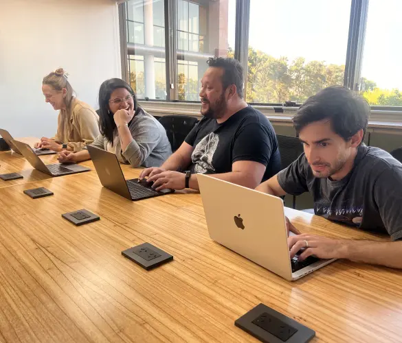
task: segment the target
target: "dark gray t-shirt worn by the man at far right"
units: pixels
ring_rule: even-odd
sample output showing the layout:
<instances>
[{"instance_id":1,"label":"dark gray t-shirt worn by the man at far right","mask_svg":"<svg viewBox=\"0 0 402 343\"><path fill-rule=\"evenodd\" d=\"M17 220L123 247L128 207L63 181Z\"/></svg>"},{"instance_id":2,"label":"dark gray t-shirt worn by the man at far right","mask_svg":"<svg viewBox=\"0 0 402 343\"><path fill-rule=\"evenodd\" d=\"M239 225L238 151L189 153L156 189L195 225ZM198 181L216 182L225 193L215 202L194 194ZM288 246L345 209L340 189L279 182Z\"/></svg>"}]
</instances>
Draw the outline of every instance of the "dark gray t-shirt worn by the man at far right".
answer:
<instances>
[{"instance_id":1,"label":"dark gray t-shirt worn by the man at far right","mask_svg":"<svg viewBox=\"0 0 402 343\"><path fill-rule=\"evenodd\" d=\"M315 178L303 153L278 173L278 182L289 194L309 191L316 215L402 239L402 164L388 152L359 146L353 169L336 181Z\"/></svg>"}]
</instances>

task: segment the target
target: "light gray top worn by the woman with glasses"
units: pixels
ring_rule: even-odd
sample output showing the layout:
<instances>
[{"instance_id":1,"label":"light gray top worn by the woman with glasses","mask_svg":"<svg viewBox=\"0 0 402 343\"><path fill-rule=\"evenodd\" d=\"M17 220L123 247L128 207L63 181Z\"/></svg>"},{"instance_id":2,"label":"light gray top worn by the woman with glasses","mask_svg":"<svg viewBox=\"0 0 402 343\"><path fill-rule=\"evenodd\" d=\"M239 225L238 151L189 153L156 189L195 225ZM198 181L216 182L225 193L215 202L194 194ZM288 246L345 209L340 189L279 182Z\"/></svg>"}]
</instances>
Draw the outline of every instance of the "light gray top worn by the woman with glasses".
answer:
<instances>
[{"instance_id":1,"label":"light gray top worn by the woman with glasses","mask_svg":"<svg viewBox=\"0 0 402 343\"><path fill-rule=\"evenodd\" d=\"M129 124L129 129L133 141L127 145L124 152L117 129L113 147L102 134L96 137L91 145L115 153L120 163L130 163L133 167L160 167L172 154L166 130L157 119L143 109L135 115Z\"/></svg>"}]
</instances>

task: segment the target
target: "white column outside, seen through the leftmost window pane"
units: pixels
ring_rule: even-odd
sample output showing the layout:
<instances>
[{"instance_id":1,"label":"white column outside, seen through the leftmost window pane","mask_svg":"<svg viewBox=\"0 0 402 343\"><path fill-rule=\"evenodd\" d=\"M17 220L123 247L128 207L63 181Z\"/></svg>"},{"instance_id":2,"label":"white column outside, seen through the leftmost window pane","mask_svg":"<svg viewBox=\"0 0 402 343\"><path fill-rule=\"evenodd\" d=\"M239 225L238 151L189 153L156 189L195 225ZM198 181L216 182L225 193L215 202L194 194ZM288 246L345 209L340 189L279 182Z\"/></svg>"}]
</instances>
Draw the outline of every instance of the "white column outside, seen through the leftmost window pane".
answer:
<instances>
[{"instance_id":1,"label":"white column outside, seen through the leftmost window pane","mask_svg":"<svg viewBox=\"0 0 402 343\"><path fill-rule=\"evenodd\" d=\"M144 1L144 43L153 47L153 0ZM155 62L154 56L144 56L145 96L155 99Z\"/></svg>"}]
</instances>

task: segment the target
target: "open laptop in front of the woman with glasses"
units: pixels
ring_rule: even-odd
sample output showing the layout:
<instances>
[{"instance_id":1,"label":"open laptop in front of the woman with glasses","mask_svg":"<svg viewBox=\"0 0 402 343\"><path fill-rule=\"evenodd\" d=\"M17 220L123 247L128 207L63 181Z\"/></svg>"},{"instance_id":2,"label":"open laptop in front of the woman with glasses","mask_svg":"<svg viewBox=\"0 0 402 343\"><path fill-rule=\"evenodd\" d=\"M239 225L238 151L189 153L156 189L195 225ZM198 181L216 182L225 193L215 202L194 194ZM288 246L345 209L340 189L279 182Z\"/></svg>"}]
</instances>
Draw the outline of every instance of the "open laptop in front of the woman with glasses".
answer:
<instances>
[{"instance_id":1,"label":"open laptop in front of the woman with glasses","mask_svg":"<svg viewBox=\"0 0 402 343\"><path fill-rule=\"evenodd\" d=\"M30 145L16 141L15 139L12 141L12 143L16 145L16 147L19 149L19 151L21 151L23 156L27 159L30 165L32 165L32 167L34 167L39 171L42 171L45 174L51 176L62 176L91 170L87 167L82 167L82 165L76 165L76 164L62 165L60 163L56 163L54 165L45 165L45 163L42 162L41 158L39 158L34 153Z\"/></svg>"}]
</instances>

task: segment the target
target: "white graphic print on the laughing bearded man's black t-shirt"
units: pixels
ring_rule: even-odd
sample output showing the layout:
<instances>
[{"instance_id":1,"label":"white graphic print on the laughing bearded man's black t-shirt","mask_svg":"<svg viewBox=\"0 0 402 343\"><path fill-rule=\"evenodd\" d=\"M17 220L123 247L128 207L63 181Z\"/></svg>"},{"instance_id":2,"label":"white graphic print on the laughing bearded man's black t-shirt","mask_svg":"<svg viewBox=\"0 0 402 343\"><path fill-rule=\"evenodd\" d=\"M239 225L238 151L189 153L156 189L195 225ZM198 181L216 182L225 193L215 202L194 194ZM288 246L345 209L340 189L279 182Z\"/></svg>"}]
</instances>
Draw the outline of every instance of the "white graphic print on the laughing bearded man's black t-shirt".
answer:
<instances>
[{"instance_id":1,"label":"white graphic print on the laughing bearded man's black t-shirt","mask_svg":"<svg viewBox=\"0 0 402 343\"><path fill-rule=\"evenodd\" d=\"M208 171L215 171L212 158L214 158L218 144L219 136L214 132L199 141L191 155L192 163L195 164L194 172L205 174Z\"/></svg>"}]
</instances>

